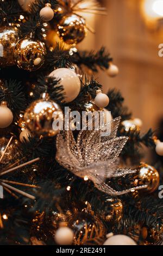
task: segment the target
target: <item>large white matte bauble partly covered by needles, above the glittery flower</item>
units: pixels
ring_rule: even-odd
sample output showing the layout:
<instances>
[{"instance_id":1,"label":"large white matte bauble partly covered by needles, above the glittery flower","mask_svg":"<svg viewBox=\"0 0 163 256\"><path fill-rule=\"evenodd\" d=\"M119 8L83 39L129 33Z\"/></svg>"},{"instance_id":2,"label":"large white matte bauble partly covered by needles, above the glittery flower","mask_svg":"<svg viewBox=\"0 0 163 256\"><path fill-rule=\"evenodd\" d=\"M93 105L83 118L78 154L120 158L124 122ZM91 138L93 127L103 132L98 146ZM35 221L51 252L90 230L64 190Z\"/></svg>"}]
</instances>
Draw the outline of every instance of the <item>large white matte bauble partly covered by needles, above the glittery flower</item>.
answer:
<instances>
[{"instance_id":1,"label":"large white matte bauble partly covered by needles, above the glittery flower","mask_svg":"<svg viewBox=\"0 0 163 256\"><path fill-rule=\"evenodd\" d=\"M51 77L60 78L60 85L64 87L65 101L71 102L79 95L80 79L78 75L70 69L56 69L49 75Z\"/></svg>"}]
</instances>

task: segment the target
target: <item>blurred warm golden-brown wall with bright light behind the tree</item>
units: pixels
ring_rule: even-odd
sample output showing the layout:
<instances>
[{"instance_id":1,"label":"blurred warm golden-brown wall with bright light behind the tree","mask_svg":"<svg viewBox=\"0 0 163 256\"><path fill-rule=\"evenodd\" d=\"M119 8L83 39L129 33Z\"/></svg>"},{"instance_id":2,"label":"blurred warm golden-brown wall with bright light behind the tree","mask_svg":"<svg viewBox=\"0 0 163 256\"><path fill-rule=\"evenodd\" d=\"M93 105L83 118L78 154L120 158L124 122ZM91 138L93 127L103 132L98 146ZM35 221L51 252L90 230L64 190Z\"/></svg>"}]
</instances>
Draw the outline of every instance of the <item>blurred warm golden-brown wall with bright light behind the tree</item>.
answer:
<instances>
[{"instance_id":1,"label":"blurred warm golden-brown wall with bright light behind the tree","mask_svg":"<svg viewBox=\"0 0 163 256\"><path fill-rule=\"evenodd\" d=\"M133 116L142 119L142 131L152 127L163 132L163 126L159 127L163 123L159 125L163 120L163 57L158 55L159 45L163 44L163 1L99 2L108 15L86 16L96 35L89 32L80 48L108 48L120 74L116 78L103 71L97 75L104 91L121 90Z\"/></svg>"}]
</instances>

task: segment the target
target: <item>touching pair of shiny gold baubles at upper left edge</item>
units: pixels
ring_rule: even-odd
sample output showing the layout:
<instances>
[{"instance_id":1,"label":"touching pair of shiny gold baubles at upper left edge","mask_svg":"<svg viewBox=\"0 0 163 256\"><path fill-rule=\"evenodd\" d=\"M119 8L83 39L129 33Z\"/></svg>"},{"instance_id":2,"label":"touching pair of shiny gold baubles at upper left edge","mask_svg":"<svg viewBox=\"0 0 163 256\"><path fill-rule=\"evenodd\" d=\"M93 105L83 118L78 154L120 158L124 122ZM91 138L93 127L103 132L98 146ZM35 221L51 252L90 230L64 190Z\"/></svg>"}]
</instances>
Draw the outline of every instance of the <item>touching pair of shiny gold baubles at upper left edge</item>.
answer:
<instances>
[{"instance_id":1,"label":"touching pair of shiny gold baubles at upper left edge","mask_svg":"<svg viewBox=\"0 0 163 256\"><path fill-rule=\"evenodd\" d=\"M0 66L16 64L18 68L35 71L43 65L46 56L45 44L27 37L20 40L18 25L0 28Z\"/></svg>"}]
</instances>

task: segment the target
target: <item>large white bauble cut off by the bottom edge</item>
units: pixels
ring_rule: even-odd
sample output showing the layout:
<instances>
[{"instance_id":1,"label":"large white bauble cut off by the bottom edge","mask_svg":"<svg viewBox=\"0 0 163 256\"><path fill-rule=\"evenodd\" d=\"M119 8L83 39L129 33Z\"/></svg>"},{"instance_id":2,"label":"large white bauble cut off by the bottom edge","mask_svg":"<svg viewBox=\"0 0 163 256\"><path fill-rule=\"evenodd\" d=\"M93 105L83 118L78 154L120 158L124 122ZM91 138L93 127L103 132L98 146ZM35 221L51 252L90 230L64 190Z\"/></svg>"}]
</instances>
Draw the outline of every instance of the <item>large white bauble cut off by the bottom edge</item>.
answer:
<instances>
[{"instance_id":1,"label":"large white bauble cut off by the bottom edge","mask_svg":"<svg viewBox=\"0 0 163 256\"><path fill-rule=\"evenodd\" d=\"M136 245L135 241L126 235L114 235L109 237L104 245Z\"/></svg>"}]
</instances>

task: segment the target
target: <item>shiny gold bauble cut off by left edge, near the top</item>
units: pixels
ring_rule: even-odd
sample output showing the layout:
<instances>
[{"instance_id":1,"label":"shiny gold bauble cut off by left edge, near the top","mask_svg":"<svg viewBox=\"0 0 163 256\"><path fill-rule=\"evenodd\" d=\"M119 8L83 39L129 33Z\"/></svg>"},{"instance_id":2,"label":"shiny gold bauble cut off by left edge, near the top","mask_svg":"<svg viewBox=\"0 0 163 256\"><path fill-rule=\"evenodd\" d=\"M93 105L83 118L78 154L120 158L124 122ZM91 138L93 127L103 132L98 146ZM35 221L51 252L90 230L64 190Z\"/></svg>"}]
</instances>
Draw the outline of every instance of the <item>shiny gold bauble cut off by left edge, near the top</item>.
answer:
<instances>
[{"instance_id":1,"label":"shiny gold bauble cut off by left edge, near the top","mask_svg":"<svg viewBox=\"0 0 163 256\"><path fill-rule=\"evenodd\" d=\"M16 25L0 27L0 66L12 66L14 62L14 47L18 41Z\"/></svg>"}]
</instances>

